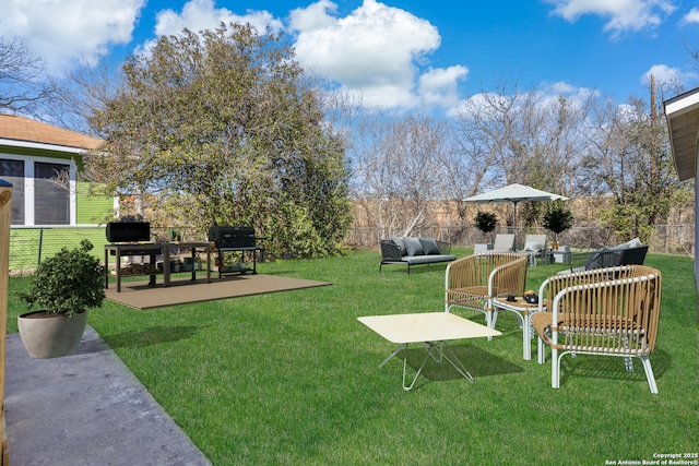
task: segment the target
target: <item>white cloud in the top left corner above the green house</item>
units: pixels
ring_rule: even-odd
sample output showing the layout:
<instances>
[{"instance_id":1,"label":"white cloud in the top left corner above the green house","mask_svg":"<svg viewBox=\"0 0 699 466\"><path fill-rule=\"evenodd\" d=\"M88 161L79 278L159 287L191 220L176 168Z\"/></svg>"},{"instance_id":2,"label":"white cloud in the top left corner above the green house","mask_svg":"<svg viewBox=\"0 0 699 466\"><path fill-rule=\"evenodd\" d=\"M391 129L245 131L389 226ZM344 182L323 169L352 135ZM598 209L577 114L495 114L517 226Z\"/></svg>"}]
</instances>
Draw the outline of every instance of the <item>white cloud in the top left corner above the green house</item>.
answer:
<instances>
[{"instance_id":1,"label":"white cloud in the top left corner above the green house","mask_svg":"<svg viewBox=\"0 0 699 466\"><path fill-rule=\"evenodd\" d=\"M78 62L95 64L116 45L129 44L145 0L0 0L0 31L23 38L49 72Z\"/></svg>"}]
</instances>

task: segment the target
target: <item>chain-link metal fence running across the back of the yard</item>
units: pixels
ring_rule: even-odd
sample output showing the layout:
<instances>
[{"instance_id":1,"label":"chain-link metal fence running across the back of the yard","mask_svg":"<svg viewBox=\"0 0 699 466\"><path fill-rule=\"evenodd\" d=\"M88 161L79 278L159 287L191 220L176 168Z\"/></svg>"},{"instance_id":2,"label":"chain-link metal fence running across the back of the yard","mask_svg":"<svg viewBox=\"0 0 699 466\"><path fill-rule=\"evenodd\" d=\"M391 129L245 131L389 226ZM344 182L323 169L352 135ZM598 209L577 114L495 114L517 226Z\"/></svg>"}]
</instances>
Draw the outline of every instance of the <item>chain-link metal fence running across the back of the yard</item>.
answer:
<instances>
[{"instance_id":1,"label":"chain-link metal fence running across the back of the yard","mask_svg":"<svg viewBox=\"0 0 699 466\"><path fill-rule=\"evenodd\" d=\"M495 232L512 232L501 228ZM393 235L400 232L391 231ZM525 234L548 234L540 229L518 229L518 244L523 246ZM193 240L203 241L193 231L185 228L156 228L151 230L153 240ZM378 227L354 227L348 234L346 241L348 244L362 248L378 248L379 240L388 238L389 232ZM411 236L424 238L438 238L452 244L473 246L478 242L487 242L484 235L475 227L461 228L459 230L451 227L430 226L415 230ZM32 273L44 258L57 253L61 248L72 249L86 238L94 246L93 253L98 258L104 258L103 246L106 243L104 226L82 226L82 227L12 227L10 232L10 271L13 274ZM595 227L571 228L560 235L561 244L576 249L597 249L603 246L621 242L611 229ZM694 255L695 251L695 227L694 225L659 225L650 241L652 252L676 253Z\"/></svg>"}]
</instances>

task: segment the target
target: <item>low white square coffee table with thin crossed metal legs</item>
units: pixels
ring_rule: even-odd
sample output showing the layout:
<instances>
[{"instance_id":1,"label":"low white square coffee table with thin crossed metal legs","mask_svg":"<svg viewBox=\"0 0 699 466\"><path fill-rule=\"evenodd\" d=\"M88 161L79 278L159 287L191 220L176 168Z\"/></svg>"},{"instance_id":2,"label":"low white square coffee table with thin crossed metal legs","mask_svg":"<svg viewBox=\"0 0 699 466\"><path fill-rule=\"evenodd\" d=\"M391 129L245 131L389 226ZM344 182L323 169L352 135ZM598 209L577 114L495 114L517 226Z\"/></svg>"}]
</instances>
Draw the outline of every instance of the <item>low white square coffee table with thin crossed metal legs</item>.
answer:
<instances>
[{"instance_id":1,"label":"low white square coffee table with thin crossed metal legs","mask_svg":"<svg viewBox=\"0 0 699 466\"><path fill-rule=\"evenodd\" d=\"M469 373L459 358L457 358L453 351L449 349L446 342L450 339L501 335L501 333L495 328L488 328L485 325L481 325L479 323L463 319L449 312L368 315L357 318L357 320L381 335L383 338L399 345L399 347L379 365L379 369L395 355L405 350L407 345L411 343L419 343L425 346L427 354L425 355L425 359L423 360L419 369L417 369L417 373L410 385L405 385L407 356L405 355L403 358L403 390L405 391L411 390L415 385L415 381L419 377L427 359L429 359L430 356L437 362L441 362L441 360L445 359L453 366L464 379L473 383L473 377ZM445 349L449 351L451 357L445 354ZM437 353L437 355L433 355L433 353Z\"/></svg>"}]
</instances>

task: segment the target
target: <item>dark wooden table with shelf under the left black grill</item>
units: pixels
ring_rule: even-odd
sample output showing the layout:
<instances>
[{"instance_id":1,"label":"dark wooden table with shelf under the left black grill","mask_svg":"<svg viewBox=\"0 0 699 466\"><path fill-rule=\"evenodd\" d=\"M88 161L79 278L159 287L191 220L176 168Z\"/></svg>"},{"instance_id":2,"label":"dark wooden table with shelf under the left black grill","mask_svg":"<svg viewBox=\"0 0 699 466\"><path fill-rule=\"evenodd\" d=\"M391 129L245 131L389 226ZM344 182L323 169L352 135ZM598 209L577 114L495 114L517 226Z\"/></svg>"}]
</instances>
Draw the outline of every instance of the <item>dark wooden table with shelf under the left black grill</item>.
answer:
<instances>
[{"instance_id":1,"label":"dark wooden table with shelf under the left black grill","mask_svg":"<svg viewBox=\"0 0 699 466\"><path fill-rule=\"evenodd\" d=\"M170 285L170 252L173 249L189 249L192 256L197 254L197 250L202 250L206 253L206 283L211 282L211 243L209 242L153 242L141 244L105 244L105 288L109 288L109 255L115 255L117 261L116 276L117 276L117 292L121 291L121 258L132 255L147 255L150 258L150 264L152 265L152 272L142 275L149 275L149 285L155 286L156 265L155 259L157 255L163 255L163 286ZM192 268L192 282L197 280L197 267Z\"/></svg>"}]
</instances>

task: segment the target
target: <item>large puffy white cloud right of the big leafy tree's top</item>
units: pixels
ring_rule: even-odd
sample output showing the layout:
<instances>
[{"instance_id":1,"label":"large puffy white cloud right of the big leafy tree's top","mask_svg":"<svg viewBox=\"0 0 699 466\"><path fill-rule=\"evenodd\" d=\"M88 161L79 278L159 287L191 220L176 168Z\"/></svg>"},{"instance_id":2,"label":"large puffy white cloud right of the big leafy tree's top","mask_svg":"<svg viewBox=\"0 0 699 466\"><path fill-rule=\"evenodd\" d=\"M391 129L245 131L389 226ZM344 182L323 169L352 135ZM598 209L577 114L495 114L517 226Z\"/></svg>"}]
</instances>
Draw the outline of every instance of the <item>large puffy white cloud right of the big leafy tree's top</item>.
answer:
<instances>
[{"instance_id":1,"label":"large puffy white cloud right of the big leafy tree's top","mask_svg":"<svg viewBox=\"0 0 699 466\"><path fill-rule=\"evenodd\" d=\"M345 17L335 11L335 3L320 0L291 14L296 57L307 70L360 94L368 106L412 108L454 98L464 67L419 75L419 64L441 41L428 21L376 0L364 0Z\"/></svg>"}]
</instances>

